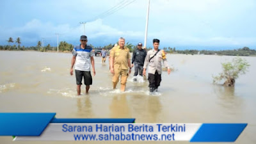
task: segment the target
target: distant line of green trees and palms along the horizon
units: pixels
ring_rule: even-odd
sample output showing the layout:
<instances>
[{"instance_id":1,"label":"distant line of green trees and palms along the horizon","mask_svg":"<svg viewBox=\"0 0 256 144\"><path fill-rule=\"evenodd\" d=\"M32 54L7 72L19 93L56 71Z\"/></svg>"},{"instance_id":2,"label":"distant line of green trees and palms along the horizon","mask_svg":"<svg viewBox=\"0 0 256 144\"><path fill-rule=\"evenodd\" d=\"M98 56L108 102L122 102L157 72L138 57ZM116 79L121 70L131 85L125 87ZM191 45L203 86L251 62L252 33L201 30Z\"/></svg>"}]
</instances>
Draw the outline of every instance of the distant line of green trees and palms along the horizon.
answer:
<instances>
[{"instance_id":1,"label":"distant line of green trees and palms along the horizon","mask_svg":"<svg viewBox=\"0 0 256 144\"><path fill-rule=\"evenodd\" d=\"M36 46L31 46L31 47L25 47L24 45L20 46L21 44L20 37L18 37L16 40L13 40L13 38L10 37L6 41L8 42L8 45L0 45L0 50L41 51L41 52L57 51L57 47L52 47L50 44L47 44L45 47L42 47L41 41L38 41ZM118 42L116 42L115 44L118 44ZM103 47L94 47L92 44L90 44L90 46L95 50L101 50L102 48L105 48L106 50L110 50L113 48L115 44L108 44ZM136 49L136 45L129 44L129 42L127 42L125 46L130 50L130 52L133 52L134 49ZM60 52L71 52L73 48L74 48L74 45L68 44L65 41L61 41L59 43ZM152 47L147 48L147 50L150 50L150 49L152 49ZM177 50L175 47L173 48L163 47L163 50L167 53L192 54L192 55L193 54L218 54L218 55L227 55L227 56L256 56L256 51L254 49L250 49L249 47L243 47L241 49L225 50L225 51L207 51L207 50L199 51L195 49Z\"/></svg>"}]
</instances>

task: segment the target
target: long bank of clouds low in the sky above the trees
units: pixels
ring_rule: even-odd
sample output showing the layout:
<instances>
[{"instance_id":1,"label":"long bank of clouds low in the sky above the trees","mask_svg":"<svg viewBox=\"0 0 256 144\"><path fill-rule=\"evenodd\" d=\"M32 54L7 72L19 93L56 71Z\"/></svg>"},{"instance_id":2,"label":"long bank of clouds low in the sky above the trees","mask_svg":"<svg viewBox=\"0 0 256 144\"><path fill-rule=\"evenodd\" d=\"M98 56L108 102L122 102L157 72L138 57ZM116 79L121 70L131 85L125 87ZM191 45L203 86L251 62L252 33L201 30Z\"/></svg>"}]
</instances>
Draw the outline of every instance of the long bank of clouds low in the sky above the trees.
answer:
<instances>
[{"instance_id":1,"label":"long bank of clouds low in the sky above the trees","mask_svg":"<svg viewBox=\"0 0 256 144\"><path fill-rule=\"evenodd\" d=\"M1 29L1 28L0 28ZM79 36L84 33L83 25L70 26L61 24L54 26L51 22L41 22L33 19L20 28L1 29L1 41L5 44L8 37L20 37L23 45L36 45L44 38L45 43L56 45L55 33L60 33L59 41L70 42L74 45L79 43ZM120 36L125 37L127 42L137 44L143 42L144 31L122 31L102 23L102 20L95 20L85 24L86 35L90 44L103 46L117 42ZM174 33L173 33L174 31ZM180 33L179 33L180 32ZM159 38L163 46L175 45L254 45L255 37L225 37L225 36L193 36L186 31L177 30L175 27L165 31L148 33L148 45L151 46L153 38Z\"/></svg>"}]
</instances>

